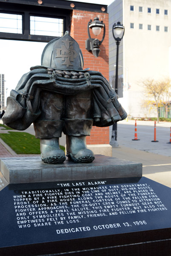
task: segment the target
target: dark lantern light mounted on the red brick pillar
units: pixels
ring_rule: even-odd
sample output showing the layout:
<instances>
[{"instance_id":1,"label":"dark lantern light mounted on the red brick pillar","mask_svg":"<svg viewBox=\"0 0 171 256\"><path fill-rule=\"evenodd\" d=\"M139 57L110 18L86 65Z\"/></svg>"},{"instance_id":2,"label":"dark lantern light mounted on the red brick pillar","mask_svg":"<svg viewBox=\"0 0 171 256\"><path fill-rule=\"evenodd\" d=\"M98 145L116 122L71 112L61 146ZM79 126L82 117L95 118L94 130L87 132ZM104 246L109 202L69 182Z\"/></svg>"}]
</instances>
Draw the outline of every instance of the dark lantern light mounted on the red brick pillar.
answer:
<instances>
[{"instance_id":1,"label":"dark lantern light mounted on the red brick pillar","mask_svg":"<svg viewBox=\"0 0 171 256\"><path fill-rule=\"evenodd\" d=\"M101 29L103 28L103 37L101 41L97 38L91 38L90 36L90 29L92 29L92 32L95 36L100 35ZM94 20L90 20L87 26L87 32L88 32L88 39L86 40L86 49L88 52L92 51L93 55L95 57L99 56L100 53L100 45L104 40L105 37L105 24L103 23L103 20L99 20L98 17L94 18Z\"/></svg>"}]
</instances>

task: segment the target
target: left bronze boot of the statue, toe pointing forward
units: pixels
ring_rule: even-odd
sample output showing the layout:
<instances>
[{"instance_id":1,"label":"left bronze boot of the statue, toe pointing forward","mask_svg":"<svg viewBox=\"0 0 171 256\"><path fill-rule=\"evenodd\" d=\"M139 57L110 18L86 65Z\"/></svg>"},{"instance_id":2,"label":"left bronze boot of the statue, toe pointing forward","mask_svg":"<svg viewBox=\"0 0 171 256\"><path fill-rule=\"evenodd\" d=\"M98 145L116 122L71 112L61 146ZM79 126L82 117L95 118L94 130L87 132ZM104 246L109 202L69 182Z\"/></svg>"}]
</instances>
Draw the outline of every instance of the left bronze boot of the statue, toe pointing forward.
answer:
<instances>
[{"instance_id":1,"label":"left bronze boot of the statue, toe pointing forward","mask_svg":"<svg viewBox=\"0 0 171 256\"><path fill-rule=\"evenodd\" d=\"M59 138L41 139L41 160L44 163L58 164L66 159L59 147Z\"/></svg>"}]
</instances>

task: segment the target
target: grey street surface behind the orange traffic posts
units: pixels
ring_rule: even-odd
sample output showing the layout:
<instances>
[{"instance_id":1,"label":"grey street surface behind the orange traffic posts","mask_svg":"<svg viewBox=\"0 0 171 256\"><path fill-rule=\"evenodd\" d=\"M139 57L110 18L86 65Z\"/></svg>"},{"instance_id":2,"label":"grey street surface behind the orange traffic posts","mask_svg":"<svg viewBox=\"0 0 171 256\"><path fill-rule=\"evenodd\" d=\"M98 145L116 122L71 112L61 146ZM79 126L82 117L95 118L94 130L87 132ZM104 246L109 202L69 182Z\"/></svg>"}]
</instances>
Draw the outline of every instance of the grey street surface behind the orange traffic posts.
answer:
<instances>
[{"instance_id":1,"label":"grey street surface behind the orange traffic posts","mask_svg":"<svg viewBox=\"0 0 171 256\"><path fill-rule=\"evenodd\" d=\"M154 140L154 122L137 121L137 137L140 140L133 141L135 131L135 121L122 121L118 123L118 143L119 145L134 149L143 150L155 154L162 154L171 157L170 122L160 122L156 124L157 140Z\"/></svg>"}]
</instances>

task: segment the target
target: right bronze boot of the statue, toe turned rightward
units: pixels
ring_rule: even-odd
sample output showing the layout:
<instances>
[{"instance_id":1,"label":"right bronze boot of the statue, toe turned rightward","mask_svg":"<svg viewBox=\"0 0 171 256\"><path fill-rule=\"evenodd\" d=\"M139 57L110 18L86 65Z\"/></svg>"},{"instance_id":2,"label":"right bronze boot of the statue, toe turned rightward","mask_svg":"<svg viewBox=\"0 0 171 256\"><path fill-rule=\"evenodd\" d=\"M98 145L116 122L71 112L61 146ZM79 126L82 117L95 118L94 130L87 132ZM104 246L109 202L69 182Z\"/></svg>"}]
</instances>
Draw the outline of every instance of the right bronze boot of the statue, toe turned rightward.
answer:
<instances>
[{"instance_id":1,"label":"right bronze boot of the statue, toe turned rightward","mask_svg":"<svg viewBox=\"0 0 171 256\"><path fill-rule=\"evenodd\" d=\"M74 163L91 163L95 159L93 151L87 148L86 136L67 135L67 157Z\"/></svg>"}]
</instances>

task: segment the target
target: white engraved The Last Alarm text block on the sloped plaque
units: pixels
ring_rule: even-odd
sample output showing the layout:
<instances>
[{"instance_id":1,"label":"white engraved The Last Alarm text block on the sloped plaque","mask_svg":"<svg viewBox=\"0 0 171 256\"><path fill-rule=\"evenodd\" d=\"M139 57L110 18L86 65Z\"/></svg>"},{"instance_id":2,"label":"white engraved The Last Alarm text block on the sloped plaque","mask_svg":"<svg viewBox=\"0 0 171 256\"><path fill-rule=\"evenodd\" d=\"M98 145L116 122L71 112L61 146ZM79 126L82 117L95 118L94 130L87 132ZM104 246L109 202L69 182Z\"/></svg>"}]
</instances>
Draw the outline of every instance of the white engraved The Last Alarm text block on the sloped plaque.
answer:
<instances>
[{"instance_id":1,"label":"white engraved The Last Alarm text block on the sloped plaque","mask_svg":"<svg viewBox=\"0 0 171 256\"><path fill-rule=\"evenodd\" d=\"M58 234L145 226L148 223L142 215L137 218L139 214L146 216L148 212L167 211L147 183L59 183L54 189L17 191L13 201L18 228L56 226ZM125 222L121 223L117 220L122 215ZM135 215L131 222L128 220L130 215ZM108 224L103 224L104 218L109 219ZM111 219L116 222L111 222ZM89 220L95 221L94 225L84 226Z\"/></svg>"}]
</instances>

